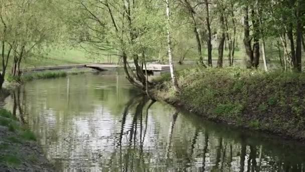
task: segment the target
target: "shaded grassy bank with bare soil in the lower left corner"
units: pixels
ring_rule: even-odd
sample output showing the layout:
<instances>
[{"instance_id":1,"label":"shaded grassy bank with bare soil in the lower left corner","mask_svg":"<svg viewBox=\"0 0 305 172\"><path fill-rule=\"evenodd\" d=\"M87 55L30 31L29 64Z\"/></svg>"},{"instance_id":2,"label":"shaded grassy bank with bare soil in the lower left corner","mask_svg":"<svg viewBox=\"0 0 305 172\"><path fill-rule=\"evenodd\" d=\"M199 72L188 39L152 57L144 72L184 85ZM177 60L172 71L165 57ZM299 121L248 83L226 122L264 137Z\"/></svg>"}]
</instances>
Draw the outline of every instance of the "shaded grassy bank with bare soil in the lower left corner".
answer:
<instances>
[{"instance_id":1,"label":"shaded grassy bank with bare soil in the lower left corner","mask_svg":"<svg viewBox=\"0 0 305 172\"><path fill-rule=\"evenodd\" d=\"M0 109L0 171L53 171L34 133L5 109Z\"/></svg>"}]
</instances>

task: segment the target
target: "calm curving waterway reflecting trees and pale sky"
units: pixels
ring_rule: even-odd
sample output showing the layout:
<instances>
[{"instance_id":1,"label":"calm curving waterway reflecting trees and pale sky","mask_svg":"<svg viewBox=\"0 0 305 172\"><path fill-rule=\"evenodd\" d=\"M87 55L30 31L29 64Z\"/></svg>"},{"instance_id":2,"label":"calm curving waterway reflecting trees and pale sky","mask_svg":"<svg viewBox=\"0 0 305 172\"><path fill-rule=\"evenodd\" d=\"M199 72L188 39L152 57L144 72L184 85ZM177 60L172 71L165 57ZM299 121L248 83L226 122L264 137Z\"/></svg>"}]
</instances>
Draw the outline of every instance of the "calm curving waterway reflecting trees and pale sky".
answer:
<instances>
[{"instance_id":1,"label":"calm curving waterway reflecting trees and pale sky","mask_svg":"<svg viewBox=\"0 0 305 172\"><path fill-rule=\"evenodd\" d=\"M26 83L6 108L56 171L304 171L305 147L151 102L113 73Z\"/></svg>"}]
</instances>

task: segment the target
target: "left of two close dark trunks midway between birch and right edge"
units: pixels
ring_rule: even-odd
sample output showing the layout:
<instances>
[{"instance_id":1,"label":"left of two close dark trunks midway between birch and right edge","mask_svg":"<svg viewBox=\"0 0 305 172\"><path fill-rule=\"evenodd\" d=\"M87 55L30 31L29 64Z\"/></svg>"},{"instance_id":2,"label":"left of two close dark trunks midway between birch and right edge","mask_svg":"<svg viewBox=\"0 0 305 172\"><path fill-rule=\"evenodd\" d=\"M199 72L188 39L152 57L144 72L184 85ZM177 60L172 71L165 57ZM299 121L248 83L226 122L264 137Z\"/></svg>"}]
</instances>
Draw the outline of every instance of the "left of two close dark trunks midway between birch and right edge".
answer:
<instances>
[{"instance_id":1,"label":"left of two close dark trunks midway between birch and right edge","mask_svg":"<svg viewBox=\"0 0 305 172\"><path fill-rule=\"evenodd\" d=\"M251 47L250 29L249 29L249 11L248 6L244 7L244 46L246 50L246 67L252 67L253 52Z\"/></svg>"}]
</instances>

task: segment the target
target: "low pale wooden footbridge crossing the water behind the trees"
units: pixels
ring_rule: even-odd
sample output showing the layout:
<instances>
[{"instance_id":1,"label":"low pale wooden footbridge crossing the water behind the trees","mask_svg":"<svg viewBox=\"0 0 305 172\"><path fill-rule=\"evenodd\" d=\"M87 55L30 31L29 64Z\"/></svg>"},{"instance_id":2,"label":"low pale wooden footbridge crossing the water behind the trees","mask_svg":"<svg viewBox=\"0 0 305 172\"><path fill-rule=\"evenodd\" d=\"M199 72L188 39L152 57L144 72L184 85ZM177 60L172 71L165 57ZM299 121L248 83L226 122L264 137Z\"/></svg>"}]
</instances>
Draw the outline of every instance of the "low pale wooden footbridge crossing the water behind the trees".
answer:
<instances>
[{"instance_id":1,"label":"low pale wooden footbridge crossing the water behind the trees","mask_svg":"<svg viewBox=\"0 0 305 172\"><path fill-rule=\"evenodd\" d=\"M134 65L130 65L131 68L135 68ZM123 68L123 65L119 64L106 64L106 63L90 63L90 64L71 64L71 65L59 65L59 66L42 66L42 67L28 67L24 68L23 71L43 71L43 70L60 70L60 69L71 69L71 68L93 68L99 71L115 70L117 68ZM145 67L143 67L145 70ZM170 71L170 65L167 64L147 64L146 70L149 73L161 74L163 72Z\"/></svg>"}]
</instances>

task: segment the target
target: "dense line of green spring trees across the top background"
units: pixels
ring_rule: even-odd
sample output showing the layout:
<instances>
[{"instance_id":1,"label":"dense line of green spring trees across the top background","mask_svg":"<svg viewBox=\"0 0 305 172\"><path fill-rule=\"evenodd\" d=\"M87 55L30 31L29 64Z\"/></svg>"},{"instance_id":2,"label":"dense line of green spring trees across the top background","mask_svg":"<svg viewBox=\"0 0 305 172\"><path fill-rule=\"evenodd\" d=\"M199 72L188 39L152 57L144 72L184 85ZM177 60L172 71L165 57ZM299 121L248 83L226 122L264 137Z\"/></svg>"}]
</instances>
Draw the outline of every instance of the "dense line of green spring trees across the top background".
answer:
<instances>
[{"instance_id":1,"label":"dense line of green spring trees across the top background","mask_svg":"<svg viewBox=\"0 0 305 172\"><path fill-rule=\"evenodd\" d=\"M63 27L65 38L88 53L116 50L113 55L123 62L127 79L143 90L153 87L142 70L147 60L169 63L164 56L179 55L183 63L193 49L203 67L213 66L212 51L217 49L217 67L223 67L225 58L227 65L234 65L238 46L245 52L247 68L258 68L263 59L268 70L268 42L272 50L278 49L283 69L302 69L305 2L301 0L1 0L0 5L1 85L8 63L13 64L12 74L19 75L20 61L40 52L39 45L59 40ZM188 44L192 41L195 44Z\"/></svg>"}]
</instances>

